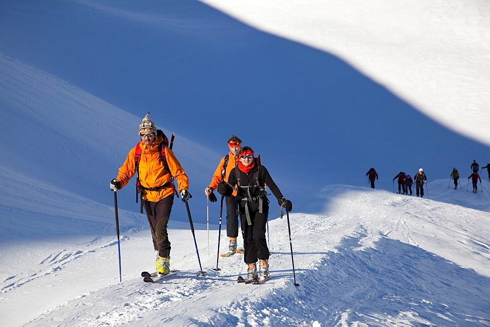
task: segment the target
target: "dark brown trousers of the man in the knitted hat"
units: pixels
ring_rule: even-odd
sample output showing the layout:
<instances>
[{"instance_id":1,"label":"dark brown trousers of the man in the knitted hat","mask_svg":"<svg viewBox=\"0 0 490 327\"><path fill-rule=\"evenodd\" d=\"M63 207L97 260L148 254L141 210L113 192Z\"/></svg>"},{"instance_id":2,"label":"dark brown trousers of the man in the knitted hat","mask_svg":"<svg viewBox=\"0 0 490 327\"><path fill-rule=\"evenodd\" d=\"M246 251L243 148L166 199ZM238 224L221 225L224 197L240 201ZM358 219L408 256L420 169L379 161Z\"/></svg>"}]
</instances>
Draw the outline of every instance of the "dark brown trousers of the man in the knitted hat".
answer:
<instances>
[{"instance_id":1,"label":"dark brown trousers of the man in the knitted hat","mask_svg":"<svg viewBox=\"0 0 490 327\"><path fill-rule=\"evenodd\" d=\"M173 194L158 202L145 200L148 222L150 223L153 248L158 251L160 257L170 256L170 241L167 232L170 212L172 211Z\"/></svg>"}]
</instances>

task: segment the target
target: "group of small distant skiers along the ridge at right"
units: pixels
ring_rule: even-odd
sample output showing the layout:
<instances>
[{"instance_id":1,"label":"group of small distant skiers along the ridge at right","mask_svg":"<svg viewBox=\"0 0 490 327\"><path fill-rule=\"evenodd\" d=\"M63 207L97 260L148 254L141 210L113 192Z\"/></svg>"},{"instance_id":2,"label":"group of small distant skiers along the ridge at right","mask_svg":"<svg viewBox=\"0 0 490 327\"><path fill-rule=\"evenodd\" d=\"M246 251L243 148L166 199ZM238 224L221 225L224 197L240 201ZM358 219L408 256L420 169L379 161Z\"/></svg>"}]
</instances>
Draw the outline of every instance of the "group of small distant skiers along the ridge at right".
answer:
<instances>
[{"instance_id":1,"label":"group of small distant skiers along the ridge at right","mask_svg":"<svg viewBox=\"0 0 490 327\"><path fill-rule=\"evenodd\" d=\"M482 183L482 179L480 178L480 175L478 174L478 171L480 170L480 165L476 162L476 160L473 160L473 163L471 164L470 168L471 168L472 174L469 175L468 180L471 178L471 181L473 183L473 193L476 193L478 190L478 180L480 180L480 184ZM482 167L482 170L485 168L488 171L489 181L490 181L490 163L488 163L485 167ZM376 169L374 169L374 168L369 169L369 171L366 173L366 176L368 177L369 183L371 184L371 188L374 188L375 181L378 180L378 178L379 178L378 173L376 172ZM451 171L450 177L454 182L454 189L457 189L458 188L458 180L460 178L460 174L458 172L458 169L453 167L453 170ZM405 172L400 171L393 178L393 191L394 191L395 179L398 179L398 193L399 194L413 195L412 185L415 182L416 194L417 194L417 196L420 196L423 198L423 196L424 196L424 184L427 183L427 176L425 175L422 168L418 169L418 172L415 174L414 178L412 178L410 175L407 175Z\"/></svg>"}]
</instances>

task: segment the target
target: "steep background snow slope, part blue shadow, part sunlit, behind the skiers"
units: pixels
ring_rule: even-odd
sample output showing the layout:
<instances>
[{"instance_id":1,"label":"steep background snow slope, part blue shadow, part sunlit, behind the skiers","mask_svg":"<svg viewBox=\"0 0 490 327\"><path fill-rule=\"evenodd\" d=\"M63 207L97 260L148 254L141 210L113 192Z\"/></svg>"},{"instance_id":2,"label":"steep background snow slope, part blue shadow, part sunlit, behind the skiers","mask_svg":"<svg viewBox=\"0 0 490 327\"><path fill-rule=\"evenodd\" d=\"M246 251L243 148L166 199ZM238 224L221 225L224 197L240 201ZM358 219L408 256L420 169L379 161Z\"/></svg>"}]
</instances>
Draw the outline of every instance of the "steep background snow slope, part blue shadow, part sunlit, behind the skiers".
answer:
<instances>
[{"instance_id":1,"label":"steep background snow slope, part blue shadow, part sunlit, behind the skiers","mask_svg":"<svg viewBox=\"0 0 490 327\"><path fill-rule=\"evenodd\" d=\"M263 2L206 1L273 34L194 0L4 0L0 52L213 152L239 135L296 202L490 162L488 4Z\"/></svg>"}]
</instances>

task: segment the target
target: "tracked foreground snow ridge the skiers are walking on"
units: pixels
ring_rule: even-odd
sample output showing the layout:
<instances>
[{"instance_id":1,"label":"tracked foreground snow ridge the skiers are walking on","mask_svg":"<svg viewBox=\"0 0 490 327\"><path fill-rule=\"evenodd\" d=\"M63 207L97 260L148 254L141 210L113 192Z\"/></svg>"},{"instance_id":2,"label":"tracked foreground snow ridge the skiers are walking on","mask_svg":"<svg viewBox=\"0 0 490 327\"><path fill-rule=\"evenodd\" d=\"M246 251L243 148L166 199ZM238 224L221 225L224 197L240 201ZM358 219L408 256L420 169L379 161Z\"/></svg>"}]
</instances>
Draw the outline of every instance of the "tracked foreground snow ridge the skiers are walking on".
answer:
<instances>
[{"instance_id":1,"label":"tracked foreground snow ridge the skiers are walking on","mask_svg":"<svg viewBox=\"0 0 490 327\"><path fill-rule=\"evenodd\" d=\"M432 192L437 193L435 189ZM453 190L452 198L488 196L488 192ZM59 250L53 251L52 243L43 244L45 253L32 257L33 262L39 262L34 271L4 281L8 285L2 286L2 307L10 314L3 316L3 324L490 323L490 213L347 186L323 188L308 207L313 209L311 213L290 214L298 287L293 285L286 219L270 221L274 278L260 286L234 281L245 272L238 255L221 258L220 272L211 269L216 267L216 229L211 232L209 256L207 232L197 232L207 277L196 276L200 268L191 233L178 223L171 231L175 246L172 268L180 272L156 284L145 284L138 278L142 267L151 268L148 263L153 258L149 251L142 251L150 246L147 230L123 232L122 283L117 276L114 238L72 241L60 248L63 251L57 257ZM65 258L69 254L72 256ZM33 295L43 301L20 314L19 301Z\"/></svg>"}]
</instances>

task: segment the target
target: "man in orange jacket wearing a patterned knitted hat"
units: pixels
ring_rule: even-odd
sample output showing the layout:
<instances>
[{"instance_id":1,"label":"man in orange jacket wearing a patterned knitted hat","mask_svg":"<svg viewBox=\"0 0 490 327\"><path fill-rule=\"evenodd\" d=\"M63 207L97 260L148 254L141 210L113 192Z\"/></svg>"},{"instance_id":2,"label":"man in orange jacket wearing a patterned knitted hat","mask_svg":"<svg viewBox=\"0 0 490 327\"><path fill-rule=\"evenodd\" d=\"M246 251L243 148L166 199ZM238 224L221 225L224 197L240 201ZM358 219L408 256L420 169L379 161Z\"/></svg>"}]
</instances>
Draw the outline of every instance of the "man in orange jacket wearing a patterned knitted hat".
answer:
<instances>
[{"instance_id":1,"label":"man in orange jacket wearing a patterned knitted hat","mask_svg":"<svg viewBox=\"0 0 490 327\"><path fill-rule=\"evenodd\" d=\"M144 201L150 224L153 247L158 251L157 271L161 275L167 275L170 271L171 250L167 225L175 193L172 175L178 182L182 201L189 200L191 194L188 192L189 178L172 150L161 144L163 138L157 136L155 124L148 118L148 114L140 124L141 142L129 151L126 161L119 168L117 179L111 181L111 188L117 190L125 187L134 174L137 174L141 199ZM139 162L136 156L137 148L140 153Z\"/></svg>"}]
</instances>

